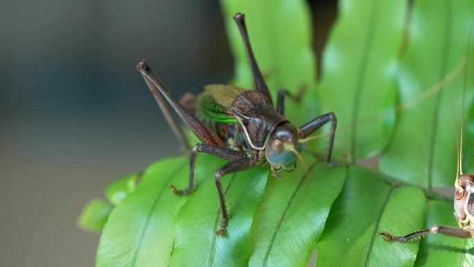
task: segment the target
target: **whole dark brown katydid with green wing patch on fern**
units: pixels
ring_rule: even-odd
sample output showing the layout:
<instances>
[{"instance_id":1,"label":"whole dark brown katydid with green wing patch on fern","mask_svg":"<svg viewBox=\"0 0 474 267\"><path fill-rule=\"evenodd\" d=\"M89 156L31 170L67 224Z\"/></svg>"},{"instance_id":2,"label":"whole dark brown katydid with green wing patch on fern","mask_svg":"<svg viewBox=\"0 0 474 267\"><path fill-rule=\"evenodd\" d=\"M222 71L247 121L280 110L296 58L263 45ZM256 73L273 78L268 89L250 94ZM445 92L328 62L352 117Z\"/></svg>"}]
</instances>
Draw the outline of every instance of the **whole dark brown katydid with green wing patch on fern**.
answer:
<instances>
[{"instance_id":1,"label":"whole dark brown katydid with green wing patch on fern","mask_svg":"<svg viewBox=\"0 0 474 267\"><path fill-rule=\"evenodd\" d=\"M186 126L202 141L202 144L196 144L191 149L188 187L178 190L170 185L173 193L187 195L195 190L194 169L197 153L208 153L229 161L215 172L222 214L220 229L216 231L218 235L226 233L229 220L220 182L222 176L261 164L269 165L274 175L278 176L277 171L293 166L297 159L304 164L301 155L299 155L301 142L315 130L331 121L331 132L325 157L326 164L329 164L337 124L335 115L330 112L296 128L283 117L285 96L295 97L285 90L279 91L277 109L275 110L270 92L249 43L245 17L243 14L237 13L234 15L234 21L236 21L243 37L256 90L241 89L232 85L208 85L204 87L204 92L197 98L197 105L193 109L195 112L191 112L171 95L168 88L155 76L145 60L139 62L137 66L178 139L183 143L186 142L183 141L186 139L170 116L159 93L166 98L166 101ZM185 144L185 146L188 145Z\"/></svg>"}]
</instances>

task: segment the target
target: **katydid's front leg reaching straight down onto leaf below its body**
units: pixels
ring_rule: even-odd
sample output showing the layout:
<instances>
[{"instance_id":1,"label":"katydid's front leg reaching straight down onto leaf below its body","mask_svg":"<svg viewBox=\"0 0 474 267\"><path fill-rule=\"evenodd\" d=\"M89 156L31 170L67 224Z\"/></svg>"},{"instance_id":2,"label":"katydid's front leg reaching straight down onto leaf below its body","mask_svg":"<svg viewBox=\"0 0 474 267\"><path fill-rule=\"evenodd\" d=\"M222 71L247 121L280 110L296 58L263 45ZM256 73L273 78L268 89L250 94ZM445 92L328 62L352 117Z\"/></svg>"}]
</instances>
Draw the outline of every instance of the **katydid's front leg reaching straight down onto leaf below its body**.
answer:
<instances>
[{"instance_id":1,"label":"katydid's front leg reaching straight down onto leaf below its body","mask_svg":"<svg viewBox=\"0 0 474 267\"><path fill-rule=\"evenodd\" d=\"M236 171L243 171L252 166L256 166L257 162L252 162L252 159L249 157L241 157L238 160L229 162L222 166L216 171L216 187L219 193L219 202L220 202L220 212L222 214L222 220L220 221L220 228L216 231L218 235L225 235L227 224L229 223L229 214L227 214L227 207L225 206L225 197L224 191L222 190L222 184L220 183L220 178L222 176L234 173Z\"/></svg>"}]
</instances>

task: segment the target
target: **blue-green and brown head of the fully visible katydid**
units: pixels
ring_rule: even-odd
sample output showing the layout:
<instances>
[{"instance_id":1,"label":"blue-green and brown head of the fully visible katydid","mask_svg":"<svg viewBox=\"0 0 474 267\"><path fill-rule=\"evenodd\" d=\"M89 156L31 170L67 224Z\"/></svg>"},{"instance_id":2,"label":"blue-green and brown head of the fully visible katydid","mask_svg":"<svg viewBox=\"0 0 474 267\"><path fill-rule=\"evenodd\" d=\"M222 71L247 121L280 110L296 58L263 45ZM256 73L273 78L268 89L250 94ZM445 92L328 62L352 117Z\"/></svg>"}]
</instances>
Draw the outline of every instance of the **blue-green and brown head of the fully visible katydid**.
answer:
<instances>
[{"instance_id":1,"label":"blue-green and brown head of the fully visible katydid","mask_svg":"<svg viewBox=\"0 0 474 267\"><path fill-rule=\"evenodd\" d=\"M272 169L279 170L295 164L297 159L304 164L299 153L301 144L298 143L297 128L291 123L282 123L275 128L268 139L265 157Z\"/></svg>"}]
</instances>

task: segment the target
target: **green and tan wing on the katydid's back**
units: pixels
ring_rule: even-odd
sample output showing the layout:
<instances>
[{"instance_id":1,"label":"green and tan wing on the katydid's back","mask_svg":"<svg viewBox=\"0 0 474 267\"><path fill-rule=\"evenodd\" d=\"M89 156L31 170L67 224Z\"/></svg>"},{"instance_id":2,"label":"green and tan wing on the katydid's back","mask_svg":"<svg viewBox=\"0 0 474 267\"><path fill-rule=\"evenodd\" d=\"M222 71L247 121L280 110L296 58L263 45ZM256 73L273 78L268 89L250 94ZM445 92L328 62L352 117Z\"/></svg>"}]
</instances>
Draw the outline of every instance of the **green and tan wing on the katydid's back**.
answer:
<instances>
[{"instance_id":1,"label":"green and tan wing on the katydid's back","mask_svg":"<svg viewBox=\"0 0 474 267\"><path fill-rule=\"evenodd\" d=\"M234 123L231 112L234 99L245 89L232 85L206 85L198 98L198 116L204 121Z\"/></svg>"}]
</instances>

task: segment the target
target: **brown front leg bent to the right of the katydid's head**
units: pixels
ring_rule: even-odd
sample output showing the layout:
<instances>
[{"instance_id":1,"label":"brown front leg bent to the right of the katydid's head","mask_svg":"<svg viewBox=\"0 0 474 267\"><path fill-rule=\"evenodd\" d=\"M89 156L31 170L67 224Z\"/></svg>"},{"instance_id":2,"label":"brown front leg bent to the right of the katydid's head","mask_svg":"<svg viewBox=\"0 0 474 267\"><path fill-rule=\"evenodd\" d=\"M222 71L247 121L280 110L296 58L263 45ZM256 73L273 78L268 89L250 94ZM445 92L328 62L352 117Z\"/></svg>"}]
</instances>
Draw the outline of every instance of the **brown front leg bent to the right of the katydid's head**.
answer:
<instances>
[{"instance_id":1,"label":"brown front leg bent to the right of the katydid's head","mask_svg":"<svg viewBox=\"0 0 474 267\"><path fill-rule=\"evenodd\" d=\"M299 131L301 132L299 138L303 139L311 135L313 132L315 132L315 130L324 126L324 124L328 123L329 121L331 121L331 130L329 132L326 164L329 164L331 162L331 153L333 153L335 128L337 126L337 118L335 117L335 114L333 112L329 112L327 114L321 115L299 128Z\"/></svg>"}]
</instances>

